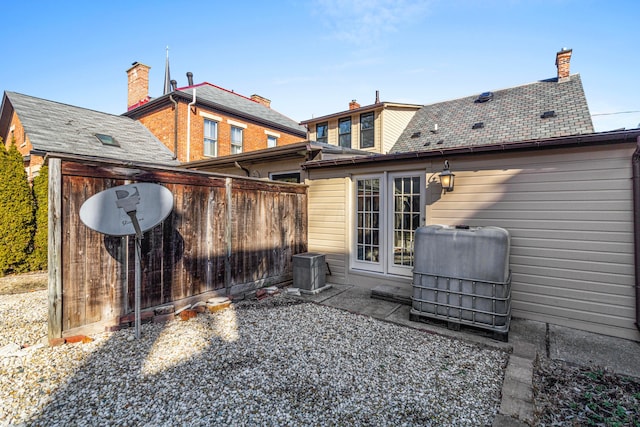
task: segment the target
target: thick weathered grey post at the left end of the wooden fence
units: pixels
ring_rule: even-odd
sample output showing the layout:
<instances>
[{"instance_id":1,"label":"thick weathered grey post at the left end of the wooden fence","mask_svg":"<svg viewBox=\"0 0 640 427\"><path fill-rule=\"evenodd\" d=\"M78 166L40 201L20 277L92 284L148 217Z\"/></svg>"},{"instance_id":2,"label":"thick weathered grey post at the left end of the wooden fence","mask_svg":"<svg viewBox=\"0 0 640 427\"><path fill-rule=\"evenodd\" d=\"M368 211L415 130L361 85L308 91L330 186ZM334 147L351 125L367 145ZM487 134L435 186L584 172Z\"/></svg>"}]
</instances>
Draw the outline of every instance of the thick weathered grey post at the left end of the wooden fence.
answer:
<instances>
[{"instance_id":1,"label":"thick weathered grey post at the left end of the wooden fence","mask_svg":"<svg viewBox=\"0 0 640 427\"><path fill-rule=\"evenodd\" d=\"M62 161L49 159L49 342L62 338Z\"/></svg>"}]
</instances>

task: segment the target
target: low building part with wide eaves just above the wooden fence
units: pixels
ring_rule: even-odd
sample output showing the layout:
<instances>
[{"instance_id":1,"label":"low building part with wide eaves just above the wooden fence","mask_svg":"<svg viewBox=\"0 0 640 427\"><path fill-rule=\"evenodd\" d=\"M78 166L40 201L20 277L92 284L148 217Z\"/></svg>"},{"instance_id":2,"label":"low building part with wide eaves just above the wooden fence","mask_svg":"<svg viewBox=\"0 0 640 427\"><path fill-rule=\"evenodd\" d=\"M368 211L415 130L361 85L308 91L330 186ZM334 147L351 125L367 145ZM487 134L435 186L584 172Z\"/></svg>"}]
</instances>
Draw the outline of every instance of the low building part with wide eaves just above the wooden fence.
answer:
<instances>
[{"instance_id":1,"label":"low building part with wide eaves just above the wooden fence","mask_svg":"<svg viewBox=\"0 0 640 427\"><path fill-rule=\"evenodd\" d=\"M307 178L302 165L308 161L370 155L372 154L362 150L337 147L316 141L303 141L248 153L196 160L185 163L182 167L225 175L300 183Z\"/></svg>"}]
</instances>

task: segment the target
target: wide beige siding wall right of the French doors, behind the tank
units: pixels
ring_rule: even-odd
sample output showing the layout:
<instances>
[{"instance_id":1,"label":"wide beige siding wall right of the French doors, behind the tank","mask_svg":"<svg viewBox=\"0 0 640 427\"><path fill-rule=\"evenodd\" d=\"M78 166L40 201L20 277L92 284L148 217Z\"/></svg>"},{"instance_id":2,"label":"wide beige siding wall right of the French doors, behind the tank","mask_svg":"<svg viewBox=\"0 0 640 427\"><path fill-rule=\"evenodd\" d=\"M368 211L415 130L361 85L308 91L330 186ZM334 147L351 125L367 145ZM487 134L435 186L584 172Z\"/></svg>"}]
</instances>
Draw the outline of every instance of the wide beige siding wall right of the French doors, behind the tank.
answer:
<instances>
[{"instance_id":1,"label":"wide beige siding wall right of the French doors, behind the tank","mask_svg":"<svg viewBox=\"0 0 640 427\"><path fill-rule=\"evenodd\" d=\"M427 221L509 230L513 316L640 340L632 153L616 145L455 160L455 190L431 191Z\"/></svg>"}]
</instances>

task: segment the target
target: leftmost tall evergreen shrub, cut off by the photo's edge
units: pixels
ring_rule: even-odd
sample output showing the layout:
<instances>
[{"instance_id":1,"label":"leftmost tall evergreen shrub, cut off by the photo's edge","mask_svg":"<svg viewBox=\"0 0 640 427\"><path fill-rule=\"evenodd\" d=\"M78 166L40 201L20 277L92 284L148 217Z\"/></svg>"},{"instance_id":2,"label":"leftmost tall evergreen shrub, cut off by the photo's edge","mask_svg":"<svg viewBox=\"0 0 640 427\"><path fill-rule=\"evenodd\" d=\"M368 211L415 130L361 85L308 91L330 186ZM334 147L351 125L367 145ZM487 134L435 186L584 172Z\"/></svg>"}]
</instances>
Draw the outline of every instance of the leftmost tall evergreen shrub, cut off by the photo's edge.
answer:
<instances>
[{"instance_id":1,"label":"leftmost tall evergreen shrub, cut off by the photo's edge","mask_svg":"<svg viewBox=\"0 0 640 427\"><path fill-rule=\"evenodd\" d=\"M35 231L34 200L15 144L0 149L0 275L29 269Z\"/></svg>"}]
</instances>

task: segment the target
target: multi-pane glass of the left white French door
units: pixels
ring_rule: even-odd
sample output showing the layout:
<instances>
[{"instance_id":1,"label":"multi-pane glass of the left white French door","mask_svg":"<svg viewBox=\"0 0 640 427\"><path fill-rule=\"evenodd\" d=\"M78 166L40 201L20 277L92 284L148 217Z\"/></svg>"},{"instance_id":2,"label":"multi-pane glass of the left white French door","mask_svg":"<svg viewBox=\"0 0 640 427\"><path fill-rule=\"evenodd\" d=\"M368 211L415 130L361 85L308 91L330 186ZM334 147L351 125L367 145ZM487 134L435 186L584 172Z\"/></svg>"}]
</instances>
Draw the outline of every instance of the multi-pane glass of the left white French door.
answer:
<instances>
[{"instance_id":1,"label":"multi-pane glass of the left white French door","mask_svg":"<svg viewBox=\"0 0 640 427\"><path fill-rule=\"evenodd\" d=\"M356 257L380 262L380 179L356 180Z\"/></svg>"}]
</instances>

